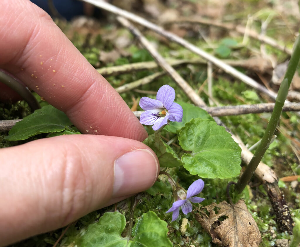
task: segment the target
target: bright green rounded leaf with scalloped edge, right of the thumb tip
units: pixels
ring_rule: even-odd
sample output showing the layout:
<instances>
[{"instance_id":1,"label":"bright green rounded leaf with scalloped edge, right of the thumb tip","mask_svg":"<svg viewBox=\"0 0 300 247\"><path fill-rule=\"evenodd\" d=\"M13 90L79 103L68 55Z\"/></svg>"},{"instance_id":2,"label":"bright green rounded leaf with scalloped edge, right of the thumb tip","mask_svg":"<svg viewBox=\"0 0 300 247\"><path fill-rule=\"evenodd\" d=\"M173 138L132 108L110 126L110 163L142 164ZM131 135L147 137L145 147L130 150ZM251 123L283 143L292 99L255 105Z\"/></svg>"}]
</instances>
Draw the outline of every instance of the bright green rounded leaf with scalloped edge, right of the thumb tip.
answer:
<instances>
[{"instance_id":1,"label":"bright green rounded leaf with scalloped edge, right of the thumb tip","mask_svg":"<svg viewBox=\"0 0 300 247\"><path fill-rule=\"evenodd\" d=\"M179 144L190 154L184 167L201 178L232 178L241 170L241 148L224 127L208 119L192 119L180 131Z\"/></svg>"}]
</instances>

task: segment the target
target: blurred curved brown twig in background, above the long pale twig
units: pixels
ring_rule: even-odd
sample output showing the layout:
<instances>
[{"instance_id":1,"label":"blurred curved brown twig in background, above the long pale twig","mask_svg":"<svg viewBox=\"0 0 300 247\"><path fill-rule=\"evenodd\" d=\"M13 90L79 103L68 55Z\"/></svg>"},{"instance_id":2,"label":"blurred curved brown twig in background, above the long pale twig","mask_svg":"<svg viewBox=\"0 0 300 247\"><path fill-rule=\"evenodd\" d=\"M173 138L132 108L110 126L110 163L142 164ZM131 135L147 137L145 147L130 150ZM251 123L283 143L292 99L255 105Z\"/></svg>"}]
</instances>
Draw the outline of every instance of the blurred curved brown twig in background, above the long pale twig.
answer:
<instances>
[{"instance_id":1,"label":"blurred curved brown twig in background, above the long pale twig","mask_svg":"<svg viewBox=\"0 0 300 247\"><path fill-rule=\"evenodd\" d=\"M222 23L214 20L208 20L208 19L202 19L202 18L179 18L175 21L166 22L166 23L182 23L182 22L189 22L189 23L197 23L197 24L204 24L209 26L215 26L218 28L224 28L227 30L234 30L240 34L245 34L246 27L242 25L235 25L232 23ZM264 34L259 34L254 30L247 30L247 35L253 39L259 40L262 43L268 44L270 46L273 46L274 48L283 51L289 55L292 54L292 49L287 48L284 45L280 45L277 40L274 40L268 36L265 36Z\"/></svg>"}]
</instances>

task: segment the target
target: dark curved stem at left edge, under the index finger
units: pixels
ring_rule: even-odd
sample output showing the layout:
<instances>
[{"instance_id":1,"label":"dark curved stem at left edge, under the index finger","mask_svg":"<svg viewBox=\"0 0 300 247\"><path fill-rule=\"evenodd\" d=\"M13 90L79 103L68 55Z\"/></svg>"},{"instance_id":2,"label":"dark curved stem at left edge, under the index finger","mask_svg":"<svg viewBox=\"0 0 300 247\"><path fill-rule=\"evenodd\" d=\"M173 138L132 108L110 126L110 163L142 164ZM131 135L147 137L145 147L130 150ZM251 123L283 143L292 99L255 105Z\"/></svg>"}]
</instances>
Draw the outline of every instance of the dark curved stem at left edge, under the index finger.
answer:
<instances>
[{"instance_id":1,"label":"dark curved stem at left edge, under the index finger","mask_svg":"<svg viewBox=\"0 0 300 247\"><path fill-rule=\"evenodd\" d=\"M12 90L16 91L16 93L18 93L28 103L32 111L41 108L30 90L3 69L0 69L0 81Z\"/></svg>"}]
</instances>

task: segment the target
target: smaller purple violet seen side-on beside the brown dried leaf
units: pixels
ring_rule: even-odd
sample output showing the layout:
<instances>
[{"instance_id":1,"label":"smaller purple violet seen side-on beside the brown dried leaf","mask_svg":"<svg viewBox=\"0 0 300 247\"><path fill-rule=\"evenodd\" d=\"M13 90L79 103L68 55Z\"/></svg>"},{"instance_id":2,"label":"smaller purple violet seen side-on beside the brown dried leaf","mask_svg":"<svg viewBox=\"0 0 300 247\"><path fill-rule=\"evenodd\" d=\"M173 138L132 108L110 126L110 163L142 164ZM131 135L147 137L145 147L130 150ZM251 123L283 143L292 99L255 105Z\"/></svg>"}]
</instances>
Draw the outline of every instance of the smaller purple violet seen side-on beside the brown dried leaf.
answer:
<instances>
[{"instance_id":1,"label":"smaller purple violet seen side-on beside the brown dried leaf","mask_svg":"<svg viewBox=\"0 0 300 247\"><path fill-rule=\"evenodd\" d=\"M198 179L193 184L190 185L187 189L187 194L186 194L186 199L178 200L175 201L172 205L172 207L166 212L166 213L171 213L173 212L172 215L172 221L176 220L179 216L179 208L181 207L181 210L184 214L188 214L192 212L193 206L190 202L201 202L205 200L204 198L195 196L198 195L204 187L204 182L202 179ZM194 197L192 197L194 196Z\"/></svg>"}]
</instances>

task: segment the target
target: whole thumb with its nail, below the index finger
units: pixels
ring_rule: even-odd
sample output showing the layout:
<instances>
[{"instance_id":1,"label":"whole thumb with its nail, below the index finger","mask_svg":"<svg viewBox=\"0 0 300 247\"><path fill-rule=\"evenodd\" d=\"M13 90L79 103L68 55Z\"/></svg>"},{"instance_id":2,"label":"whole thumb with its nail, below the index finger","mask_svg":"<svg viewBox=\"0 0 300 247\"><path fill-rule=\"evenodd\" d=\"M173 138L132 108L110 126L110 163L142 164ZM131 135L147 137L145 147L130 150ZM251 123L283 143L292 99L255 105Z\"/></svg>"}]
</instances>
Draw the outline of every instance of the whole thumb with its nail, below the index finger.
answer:
<instances>
[{"instance_id":1,"label":"whole thumb with its nail, below the index finger","mask_svg":"<svg viewBox=\"0 0 300 247\"><path fill-rule=\"evenodd\" d=\"M64 135L2 148L0 160L4 245L146 190L159 172L157 157L143 143L101 135Z\"/></svg>"}]
</instances>

